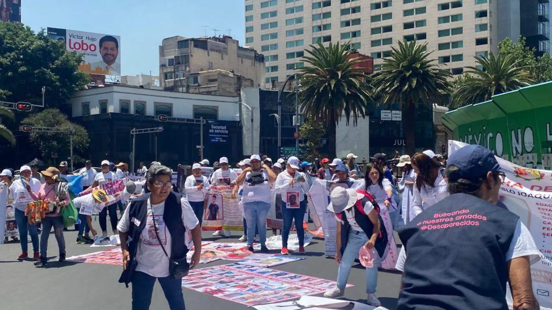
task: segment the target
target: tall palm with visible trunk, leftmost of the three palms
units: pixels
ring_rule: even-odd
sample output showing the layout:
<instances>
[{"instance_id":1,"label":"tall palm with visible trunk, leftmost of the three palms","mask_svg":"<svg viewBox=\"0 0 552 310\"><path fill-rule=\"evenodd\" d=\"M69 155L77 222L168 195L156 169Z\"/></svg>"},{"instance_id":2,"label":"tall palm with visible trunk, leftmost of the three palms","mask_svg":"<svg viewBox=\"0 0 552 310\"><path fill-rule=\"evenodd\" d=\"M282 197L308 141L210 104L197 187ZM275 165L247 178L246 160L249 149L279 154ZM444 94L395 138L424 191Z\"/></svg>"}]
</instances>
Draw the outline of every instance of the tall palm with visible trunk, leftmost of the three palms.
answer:
<instances>
[{"instance_id":1,"label":"tall palm with visible trunk, leftmost of the three palms","mask_svg":"<svg viewBox=\"0 0 552 310\"><path fill-rule=\"evenodd\" d=\"M344 116L349 124L351 116L357 125L359 117L365 116L370 98L365 80L368 78L361 68L359 58L350 58L352 50L348 44L330 42L328 47L321 43L311 45L302 57L307 66L298 68L297 78L301 81L299 104L309 120L323 122L328 132L328 155L336 156L336 127Z\"/></svg>"}]
</instances>

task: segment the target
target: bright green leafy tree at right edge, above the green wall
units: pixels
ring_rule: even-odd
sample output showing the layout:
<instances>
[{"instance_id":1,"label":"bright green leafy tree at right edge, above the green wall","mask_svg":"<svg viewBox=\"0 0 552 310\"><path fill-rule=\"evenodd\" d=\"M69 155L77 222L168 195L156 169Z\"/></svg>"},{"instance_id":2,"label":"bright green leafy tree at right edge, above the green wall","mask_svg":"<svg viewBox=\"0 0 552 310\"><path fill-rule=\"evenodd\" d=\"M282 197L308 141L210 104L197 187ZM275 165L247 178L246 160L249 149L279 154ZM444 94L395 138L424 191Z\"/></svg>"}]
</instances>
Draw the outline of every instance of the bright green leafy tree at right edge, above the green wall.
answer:
<instances>
[{"instance_id":1,"label":"bright green leafy tree at right edge, above the green wall","mask_svg":"<svg viewBox=\"0 0 552 310\"><path fill-rule=\"evenodd\" d=\"M513 55L519 60L518 67L526 67L536 83L543 83L552 80L552 58L550 55L535 56L536 49L526 46L526 39L519 37L518 43L506 38L498 43L498 53L502 56Z\"/></svg>"}]
</instances>

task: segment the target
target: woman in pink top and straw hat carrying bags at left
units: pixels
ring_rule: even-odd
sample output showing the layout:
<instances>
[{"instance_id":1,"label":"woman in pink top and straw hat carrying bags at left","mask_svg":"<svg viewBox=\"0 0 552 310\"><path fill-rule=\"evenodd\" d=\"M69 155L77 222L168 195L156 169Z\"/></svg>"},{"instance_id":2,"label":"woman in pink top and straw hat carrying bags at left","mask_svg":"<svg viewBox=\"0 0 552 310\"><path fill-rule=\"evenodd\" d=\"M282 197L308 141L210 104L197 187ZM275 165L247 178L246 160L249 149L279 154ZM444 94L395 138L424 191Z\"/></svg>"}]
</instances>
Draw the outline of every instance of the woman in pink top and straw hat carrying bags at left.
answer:
<instances>
[{"instance_id":1,"label":"woman in pink top and straw hat carrying bags at left","mask_svg":"<svg viewBox=\"0 0 552 310\"><path fill-rule=\"evenodd\" d=\"M46 217L42 218L42 234L40 235L40 261L35 265L46 265L48 249L48 237L50 230L54 227L54 233L57 240L57 246L60 249L59 261L65 261L65 238L63 238L63 220L61 217L61 208L69 205L69 193L67 183L61 182L59 179L60 171L57 168L50 167L42 172L45 183L40 185L40 190L34 193L28 186L27 190L35 201L43 200L48 203L48 211Z\"/></svg>"}]
</instances>

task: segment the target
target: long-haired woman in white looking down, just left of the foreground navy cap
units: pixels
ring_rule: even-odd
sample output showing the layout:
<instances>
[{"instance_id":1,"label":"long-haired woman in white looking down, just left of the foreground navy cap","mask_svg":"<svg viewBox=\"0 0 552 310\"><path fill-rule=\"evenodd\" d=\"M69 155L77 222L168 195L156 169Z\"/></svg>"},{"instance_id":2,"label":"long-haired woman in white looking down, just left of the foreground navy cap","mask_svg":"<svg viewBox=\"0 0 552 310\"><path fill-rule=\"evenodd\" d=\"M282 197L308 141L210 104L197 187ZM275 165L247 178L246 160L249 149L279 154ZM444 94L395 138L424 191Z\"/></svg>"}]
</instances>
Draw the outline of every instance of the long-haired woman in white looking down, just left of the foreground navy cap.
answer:
<instances>
[{"instance_id":1,"label":"long-haired woman in white looking down, just left of the foreground navy cap","mask_svg":"<svg viewBox=\"0 0 552 310\"><path fill-rule=\"evenodd\" d=\"M414 185L410 220L423 210L437 204L449 196L447 180L443 177L444 168L424 153L412 157L412 169L417 174Z\"/></svg>"}]
</instances>

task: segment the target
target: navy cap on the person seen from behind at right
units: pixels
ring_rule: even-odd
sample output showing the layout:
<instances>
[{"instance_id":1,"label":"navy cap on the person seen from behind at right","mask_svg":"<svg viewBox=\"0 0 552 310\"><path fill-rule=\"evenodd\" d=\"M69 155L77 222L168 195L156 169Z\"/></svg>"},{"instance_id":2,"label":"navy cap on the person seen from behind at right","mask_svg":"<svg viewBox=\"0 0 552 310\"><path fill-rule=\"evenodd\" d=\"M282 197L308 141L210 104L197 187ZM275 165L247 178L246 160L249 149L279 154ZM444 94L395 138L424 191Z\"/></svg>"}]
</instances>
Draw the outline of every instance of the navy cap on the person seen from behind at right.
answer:
<instances>
[{"instance_id":1,"label":"navy cap on the person seen from behind at right","mask_svg":"<svg viewBox=\"0 0 552 310\"><path fill-rule=\"evenodd\" d=\"M487 173L498 172L500 165L490 149L480 145L467 145L452 153L447 161L447 168L454 165L459 170L447 176L449 180L466 179L475 181Z\"/></svg>"}]
</instances>

